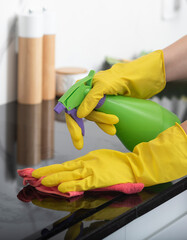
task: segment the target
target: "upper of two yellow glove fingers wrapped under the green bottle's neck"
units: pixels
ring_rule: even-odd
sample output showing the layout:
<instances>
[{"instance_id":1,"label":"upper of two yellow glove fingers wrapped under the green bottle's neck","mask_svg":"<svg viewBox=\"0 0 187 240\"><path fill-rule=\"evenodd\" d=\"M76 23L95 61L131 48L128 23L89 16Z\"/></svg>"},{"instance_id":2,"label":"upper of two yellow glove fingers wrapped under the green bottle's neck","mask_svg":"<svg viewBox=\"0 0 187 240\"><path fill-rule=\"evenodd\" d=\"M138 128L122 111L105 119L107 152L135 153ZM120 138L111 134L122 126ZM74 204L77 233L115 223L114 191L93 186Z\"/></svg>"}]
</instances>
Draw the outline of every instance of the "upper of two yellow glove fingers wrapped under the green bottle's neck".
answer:
<instances>
[{"instance_id":1,"label":"upper of two yellow glove fingers wrapped under the green bottle's neck","mask_svg":"<svg viewBox=\"0 0 187 240\"><path fill-rule=\"evenodd\" d=\"M92 111L88 116L86 116L86 119L89 121L106 124L117 124L119 122L119 118L116 115L98 111Z\"/></svg>"}]
</instances>

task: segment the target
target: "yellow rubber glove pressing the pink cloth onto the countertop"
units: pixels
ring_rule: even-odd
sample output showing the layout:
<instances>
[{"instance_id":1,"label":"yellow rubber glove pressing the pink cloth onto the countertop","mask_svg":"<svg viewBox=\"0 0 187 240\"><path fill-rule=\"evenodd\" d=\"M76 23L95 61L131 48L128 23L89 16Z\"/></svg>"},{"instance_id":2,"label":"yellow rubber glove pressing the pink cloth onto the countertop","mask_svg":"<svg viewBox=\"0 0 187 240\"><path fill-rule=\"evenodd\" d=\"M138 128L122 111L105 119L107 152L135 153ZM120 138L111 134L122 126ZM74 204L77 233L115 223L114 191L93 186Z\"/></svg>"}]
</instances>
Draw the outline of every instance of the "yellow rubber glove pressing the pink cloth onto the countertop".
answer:
<instances>
[{"instance_id":1,"label":"yellow rubber glove pressing the pink cloth onto the countertop","mask_svg":"<svg viewBox=\"0 0 187 240\"><path fill-rule=\"evenodd\" d=\"M149 142L138 144L133 153L96 150L63 164L39 168L32 176L60 192L86 191L119 183L152 186L187 174L187 135L176 123Z\"/></svg>"}]
</instances>

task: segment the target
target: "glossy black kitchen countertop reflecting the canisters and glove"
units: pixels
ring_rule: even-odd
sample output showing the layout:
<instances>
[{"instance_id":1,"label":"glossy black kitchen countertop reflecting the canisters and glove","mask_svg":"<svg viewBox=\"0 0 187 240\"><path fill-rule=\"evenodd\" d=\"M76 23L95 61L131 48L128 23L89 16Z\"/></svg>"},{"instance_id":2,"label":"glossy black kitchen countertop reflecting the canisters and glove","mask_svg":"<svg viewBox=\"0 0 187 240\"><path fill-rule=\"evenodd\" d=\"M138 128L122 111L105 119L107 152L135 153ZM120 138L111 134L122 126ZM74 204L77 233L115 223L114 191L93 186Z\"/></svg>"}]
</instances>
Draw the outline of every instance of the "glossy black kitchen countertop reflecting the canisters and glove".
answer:
<instances>
[{"instance_id":1,"label":"glossy black kitchen countertop reflecting the canisters and glove","mask_svg":"<svg viewBox=\"0 0 187 240\"><path fill-rule=\"evenodd\" d=\"M168 109L187 119L186 98L179 95L173 98L170 93L167 101L158 96L156 101L167 102ZM54 105L45 101L0 106L1 239L102 239L187 189L187 178L144 188L139 194L87 192L72 199L23 188L17 169L62 163L101 148L127 151L116 136L89 121L85 121L84 148L76 150L64 115L54 119Z\"/></svg>"}]
</instances>

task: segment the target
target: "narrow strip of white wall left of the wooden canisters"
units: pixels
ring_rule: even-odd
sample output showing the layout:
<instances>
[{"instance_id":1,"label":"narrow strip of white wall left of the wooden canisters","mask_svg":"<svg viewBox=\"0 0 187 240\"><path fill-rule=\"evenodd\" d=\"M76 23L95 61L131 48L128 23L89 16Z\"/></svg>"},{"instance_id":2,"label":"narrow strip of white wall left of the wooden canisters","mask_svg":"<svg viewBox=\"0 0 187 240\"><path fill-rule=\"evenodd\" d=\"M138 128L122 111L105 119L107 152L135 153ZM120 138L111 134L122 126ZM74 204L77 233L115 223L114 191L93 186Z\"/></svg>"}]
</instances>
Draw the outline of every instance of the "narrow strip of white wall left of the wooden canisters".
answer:
<instances>
[{"instance_id":1,"label":"narrow strip of white wall left of the wooden canisters","mask_svg":"<svg viewBox=\"0 0 187 240\"><path fill-rule=\"evenodd\" d=\"M7 0L0 8L0 104L16 99L16 15L20 0Z\"/></svg>"}]
</instances>

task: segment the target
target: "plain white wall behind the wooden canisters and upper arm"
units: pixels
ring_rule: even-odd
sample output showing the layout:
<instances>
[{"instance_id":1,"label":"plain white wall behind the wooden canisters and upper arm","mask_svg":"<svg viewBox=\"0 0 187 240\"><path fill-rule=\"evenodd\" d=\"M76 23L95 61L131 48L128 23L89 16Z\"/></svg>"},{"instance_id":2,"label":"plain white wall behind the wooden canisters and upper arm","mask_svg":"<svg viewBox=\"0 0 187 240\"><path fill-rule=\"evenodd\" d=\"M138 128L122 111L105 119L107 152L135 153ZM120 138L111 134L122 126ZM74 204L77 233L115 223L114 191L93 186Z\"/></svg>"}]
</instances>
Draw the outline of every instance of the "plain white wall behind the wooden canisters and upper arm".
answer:
<instances>
[{"instance_id":1,"label":"plain white wall behind the wooden canisters and upper arm","mask_svg":"<svg viewBox=\"0 0 187 240\"><path fill-rule=\"evenodd\" d=\"M96 71L106 56L130 59L162 49L187 33L187 1L163 20L163 0L48 0L56 12L56 67ZM0 9L0 104L16 99L16 15L24 0ZM38 1L39 2L39 1Z\"/></svg>"}]
</instances>

